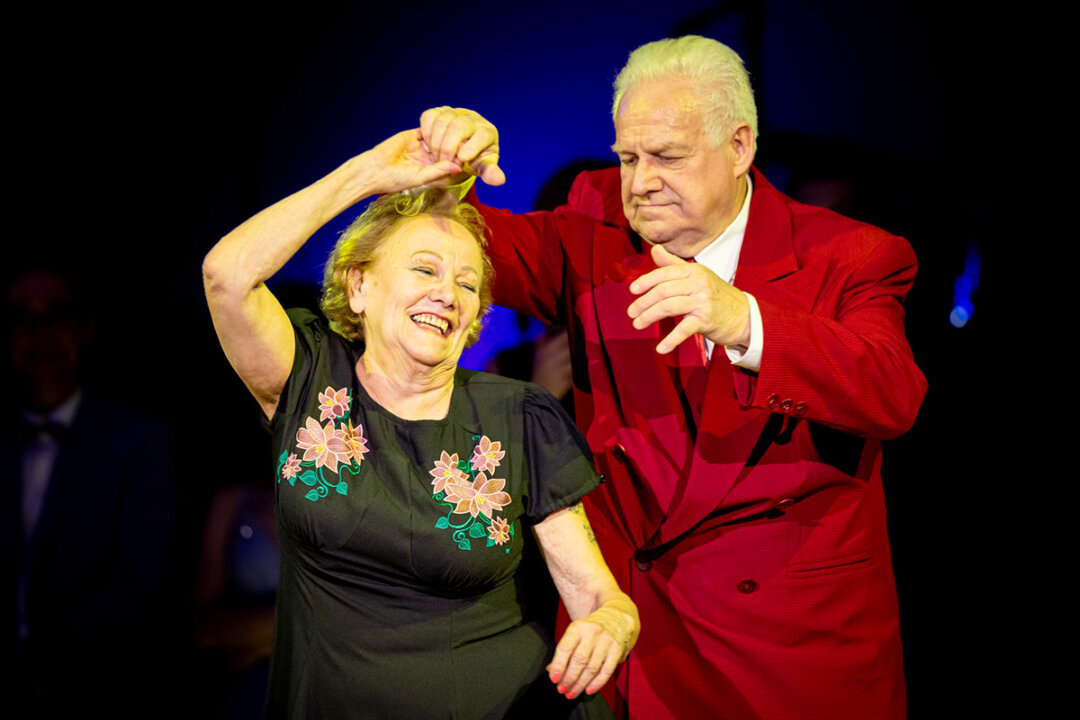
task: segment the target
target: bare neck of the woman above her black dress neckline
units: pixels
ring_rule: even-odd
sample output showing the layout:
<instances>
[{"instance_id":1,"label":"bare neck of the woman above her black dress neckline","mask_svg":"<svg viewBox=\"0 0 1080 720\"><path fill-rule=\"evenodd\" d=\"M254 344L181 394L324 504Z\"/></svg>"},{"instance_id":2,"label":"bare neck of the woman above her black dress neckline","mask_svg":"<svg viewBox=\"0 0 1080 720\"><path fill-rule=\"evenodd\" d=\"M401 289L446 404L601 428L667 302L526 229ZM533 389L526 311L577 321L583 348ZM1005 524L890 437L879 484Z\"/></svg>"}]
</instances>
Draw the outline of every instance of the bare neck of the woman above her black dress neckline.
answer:
<instances>
[{"instance_id":1,"label":"bare neck of the woman above her black dress neckline","mask_svg":"<svg viewBox=\"0 0 1080 720\"><path fill-rule=\"evenodd\" d=\"M442 420L450 411L457 365L403 368L365 351L356 377L376 403L403 420Z\"/></svg>"}]
</instances>

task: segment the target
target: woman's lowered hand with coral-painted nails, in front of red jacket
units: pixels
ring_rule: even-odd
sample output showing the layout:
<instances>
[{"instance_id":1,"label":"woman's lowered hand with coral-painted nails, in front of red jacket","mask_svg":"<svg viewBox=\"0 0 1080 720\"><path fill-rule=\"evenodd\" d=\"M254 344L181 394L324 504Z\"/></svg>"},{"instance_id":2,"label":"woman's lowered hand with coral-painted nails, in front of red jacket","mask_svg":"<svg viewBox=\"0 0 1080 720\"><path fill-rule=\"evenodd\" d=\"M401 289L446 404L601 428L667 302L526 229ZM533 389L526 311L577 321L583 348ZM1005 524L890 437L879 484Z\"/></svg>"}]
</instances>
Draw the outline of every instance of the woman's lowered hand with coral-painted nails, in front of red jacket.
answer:
<instances>
[{"instance_id":1,"label":"woman's lowered hand with coral-painted nails, in front of red jacket","mask_svg":"<svg viewBox=\"0 0 1080 720\"><path fill-rule=\"evenodd\" d=\"M605 602L596 612L566 628L548 665L548 677L569 699L582 692L592 695L630 655L639 629L637 608L630 598L622 596Z\"/></svg>"}]
</instances>

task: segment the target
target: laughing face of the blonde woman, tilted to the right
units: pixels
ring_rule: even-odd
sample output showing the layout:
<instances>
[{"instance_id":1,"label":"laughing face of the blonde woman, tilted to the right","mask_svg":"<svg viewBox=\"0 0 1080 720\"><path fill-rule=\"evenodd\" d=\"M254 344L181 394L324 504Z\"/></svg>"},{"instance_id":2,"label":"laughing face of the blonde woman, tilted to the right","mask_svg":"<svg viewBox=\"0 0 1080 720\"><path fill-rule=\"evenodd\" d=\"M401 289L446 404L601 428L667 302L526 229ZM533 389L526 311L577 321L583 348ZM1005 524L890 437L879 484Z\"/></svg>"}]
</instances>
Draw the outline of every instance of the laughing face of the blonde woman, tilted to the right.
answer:
<instances>
[{"instance_id":1,"label":"laughing face of the blonde woman, tilted to the right","mask_svg":"<svg viewBox=\"0 0 1080 720\"><path fill-rule=\"evenodd\" d=\"M349 274L365 353L391 367L456 366L480 312L484 261L453 220L420 215L390 231L368 269Z\"/></svg>"}]
</instances>

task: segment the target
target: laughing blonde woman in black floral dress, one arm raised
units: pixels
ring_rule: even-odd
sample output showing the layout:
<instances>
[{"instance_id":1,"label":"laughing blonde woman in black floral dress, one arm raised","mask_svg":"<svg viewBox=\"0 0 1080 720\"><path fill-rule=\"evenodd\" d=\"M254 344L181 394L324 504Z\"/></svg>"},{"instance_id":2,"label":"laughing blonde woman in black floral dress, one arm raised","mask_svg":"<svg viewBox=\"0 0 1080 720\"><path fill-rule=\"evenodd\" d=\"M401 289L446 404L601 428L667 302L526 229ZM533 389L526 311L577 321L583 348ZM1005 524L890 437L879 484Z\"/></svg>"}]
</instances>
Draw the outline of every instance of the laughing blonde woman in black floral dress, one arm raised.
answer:
<instances>
[{"instance_id":1,"label":"laughing blonde woman in black floral dress, one arm raised","mask_svg":"<svg viewBox=\"0 0 1080 720\"><path fill-rule=\"evenodd\" d=\"M218 338L273 431L271 717L589 717L637 637L579 504L598 481L583 438L537 385L457 366L492 280L471 206L437 188L374 202L327 262L326 320L264 284L356 202L461 169L400 133L203 264ZM572 620L554 649L516 582L526 529Z\"/></svg>"}]
</instances>

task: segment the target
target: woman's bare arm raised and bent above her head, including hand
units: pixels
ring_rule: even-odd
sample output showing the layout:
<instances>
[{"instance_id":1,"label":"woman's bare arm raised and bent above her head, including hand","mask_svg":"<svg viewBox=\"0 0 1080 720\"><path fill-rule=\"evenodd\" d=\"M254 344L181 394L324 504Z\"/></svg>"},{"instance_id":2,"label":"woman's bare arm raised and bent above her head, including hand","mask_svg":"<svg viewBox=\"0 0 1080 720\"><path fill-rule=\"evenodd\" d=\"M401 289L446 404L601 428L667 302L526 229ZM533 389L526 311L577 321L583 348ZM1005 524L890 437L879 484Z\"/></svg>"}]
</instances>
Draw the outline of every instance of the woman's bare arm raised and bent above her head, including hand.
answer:
<instances>
[{"instance_id":1,"label":"woman's bare arm raised and bent above her head, including hand","mask_svg":"<svg viewBox=\"0 0 1080 720\"><path fill-rule=\"evenodd\" d=\"M266 208L206 255L203 285L214 329L229 363L268 418L292 370L295 337L266 281L316 230L365 198L459 172L455 162L433 161L419 131L404 131Z\"/></svg>"}]
</instances>

